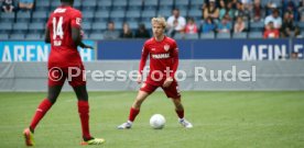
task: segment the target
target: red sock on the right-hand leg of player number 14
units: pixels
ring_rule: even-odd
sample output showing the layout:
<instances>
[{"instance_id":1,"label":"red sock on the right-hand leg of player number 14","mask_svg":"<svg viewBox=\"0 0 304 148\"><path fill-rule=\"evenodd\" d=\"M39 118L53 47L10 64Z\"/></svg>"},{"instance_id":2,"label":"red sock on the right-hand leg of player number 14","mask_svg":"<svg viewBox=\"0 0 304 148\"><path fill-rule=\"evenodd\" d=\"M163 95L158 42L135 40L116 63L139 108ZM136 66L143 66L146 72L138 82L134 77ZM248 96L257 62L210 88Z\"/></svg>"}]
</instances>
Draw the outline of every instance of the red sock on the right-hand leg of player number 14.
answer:
<instances>
[{"instance_id":1,"label":"red sock on the right-hand leg of player number 14","mask_svg":"<svg viewBox=\"0 0 304 148\"><path fill-rule=\"evenodd\" d=\"M87 101L78 101L78 113L82 121L83 137L90 139L89 134L89 104Z\"/></svg>"}]
</instances>

